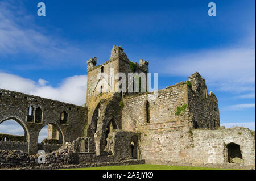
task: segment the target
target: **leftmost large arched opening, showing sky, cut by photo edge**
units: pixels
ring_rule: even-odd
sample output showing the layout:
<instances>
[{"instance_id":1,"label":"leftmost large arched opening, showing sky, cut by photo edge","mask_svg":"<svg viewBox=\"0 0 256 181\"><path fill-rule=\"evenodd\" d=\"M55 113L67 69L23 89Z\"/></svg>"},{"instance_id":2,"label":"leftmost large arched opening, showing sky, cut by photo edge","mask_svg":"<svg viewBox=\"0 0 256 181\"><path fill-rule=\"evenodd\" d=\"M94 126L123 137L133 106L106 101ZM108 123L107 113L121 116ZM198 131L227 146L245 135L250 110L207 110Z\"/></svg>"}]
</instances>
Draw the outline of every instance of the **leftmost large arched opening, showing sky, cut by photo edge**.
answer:
<instances>
[{"instance_id":1,"label":"leftmost large arched opening, showing sky, cut by photo edge","mask_svg":"<svg viewBox=\"0 0 256 181\"><path fill-rule=\"evenodd\" d=\"M0 122L0 141L27 142L28 129L18 119L6 119Z\"/></svg>"}]
</instances>

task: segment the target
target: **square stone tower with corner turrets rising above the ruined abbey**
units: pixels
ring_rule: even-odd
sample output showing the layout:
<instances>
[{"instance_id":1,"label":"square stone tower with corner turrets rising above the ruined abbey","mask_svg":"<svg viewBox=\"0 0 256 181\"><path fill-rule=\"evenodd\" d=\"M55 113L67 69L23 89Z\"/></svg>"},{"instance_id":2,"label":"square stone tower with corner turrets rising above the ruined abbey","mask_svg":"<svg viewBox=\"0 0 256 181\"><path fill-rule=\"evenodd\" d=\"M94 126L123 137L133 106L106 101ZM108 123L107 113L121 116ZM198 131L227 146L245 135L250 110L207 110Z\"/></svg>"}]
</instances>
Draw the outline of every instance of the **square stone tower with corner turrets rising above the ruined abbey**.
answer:
<instances>
[{"instance_id":1,"label":"square stone tower with corner turrets rising above the ruined abbey","mask_svg":"<svg viewBox=\"0 0 256 181\"><path fill-rule=\"evenodd\" d=\"M91 123L92 114L100 100L110 98L114 94L121 92L119 86L117 86L120 80L118 74L124 73L126 75L126 89L128 89L131 86L128 84L128 73L148 73L148 61L140 60L140 65L133 63L127 58L123 49L115 45L112 48L109 60L98 66L96 64L96 57L90 58L87 61L88 81L86 104L88 106L89 124ZM131 70L131 64L134 65L134 70ZM99 74L104 74L105 76L101 77ZM117 89L114 89L112 85L117 86L115 87Z\"/></svg>"}]
</instances>

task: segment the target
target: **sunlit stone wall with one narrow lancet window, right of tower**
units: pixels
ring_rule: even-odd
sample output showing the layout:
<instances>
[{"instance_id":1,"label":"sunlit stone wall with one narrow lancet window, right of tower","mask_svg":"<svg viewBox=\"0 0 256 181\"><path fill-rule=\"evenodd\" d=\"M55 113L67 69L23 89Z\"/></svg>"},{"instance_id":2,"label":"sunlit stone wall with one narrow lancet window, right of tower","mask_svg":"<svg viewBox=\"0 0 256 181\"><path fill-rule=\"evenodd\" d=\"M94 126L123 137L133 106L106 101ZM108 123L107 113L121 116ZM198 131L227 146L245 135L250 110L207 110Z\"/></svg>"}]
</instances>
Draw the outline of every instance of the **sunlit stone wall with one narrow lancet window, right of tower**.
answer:
<instances>
[{"instance_id":1,"label":"sunlit stone wall with one narrow lancet window, right of tower","mask_svg":"<svg viewBox=\"0 0 256 181\"><path fill-rule=\"evenodd\" d=\"M177 107L188 104L188 86L185 82L154 92L123 98L122 128L141 133L141 158L154 163L171 159L186 162L182 150L193 144L192 115L185 107L176 115ZM150 123L146 121L146 102L150 104Z\"/></svg>"}]
</instances>

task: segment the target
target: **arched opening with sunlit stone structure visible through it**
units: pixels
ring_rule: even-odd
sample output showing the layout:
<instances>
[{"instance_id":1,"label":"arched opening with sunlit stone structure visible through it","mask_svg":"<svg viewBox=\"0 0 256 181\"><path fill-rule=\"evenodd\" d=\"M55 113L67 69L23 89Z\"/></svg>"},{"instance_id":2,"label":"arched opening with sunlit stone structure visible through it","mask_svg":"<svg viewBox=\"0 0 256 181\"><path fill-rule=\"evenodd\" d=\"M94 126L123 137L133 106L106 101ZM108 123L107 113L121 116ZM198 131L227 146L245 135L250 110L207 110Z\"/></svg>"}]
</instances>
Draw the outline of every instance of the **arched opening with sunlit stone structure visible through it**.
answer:
<instances>
[{"instance_id":1,"label":"arched opening with sunlit stone structure visible through it","mask_svg":"<svg viewBox=\"0 0 256 181\"><path fill-rule=\"evenodd\" d=\"M39 132L39 144L63 144L63 142L63 133L53 123L45 125Z\"/></svg>"}]
</instances>

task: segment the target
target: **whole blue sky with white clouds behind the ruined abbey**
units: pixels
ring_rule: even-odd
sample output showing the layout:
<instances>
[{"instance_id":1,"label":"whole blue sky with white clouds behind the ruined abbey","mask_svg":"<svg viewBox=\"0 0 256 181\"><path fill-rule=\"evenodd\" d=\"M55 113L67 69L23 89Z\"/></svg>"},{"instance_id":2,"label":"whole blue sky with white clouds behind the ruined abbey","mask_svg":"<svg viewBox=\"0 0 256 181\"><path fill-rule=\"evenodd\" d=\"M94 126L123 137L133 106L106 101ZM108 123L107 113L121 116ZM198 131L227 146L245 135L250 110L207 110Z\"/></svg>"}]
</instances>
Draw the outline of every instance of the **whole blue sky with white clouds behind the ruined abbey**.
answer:
<instances>
[{"instance_id":1,"label":"whole blue sky with white clouds behind the ruined abbey","mask_svg":"<svg viewBox=\"0 0 256 181\"><path fill-rule=\"evenodd\" d=\"M46 16L37 15L39 2ZM208 16L209 2L217 16ZM255 1L0 0L4 89L80 105L86 60L101 64L113 45L131 61L150 61L160 89L199 71L221 123L255 129Z\"/></svg>"}]
</instances>

